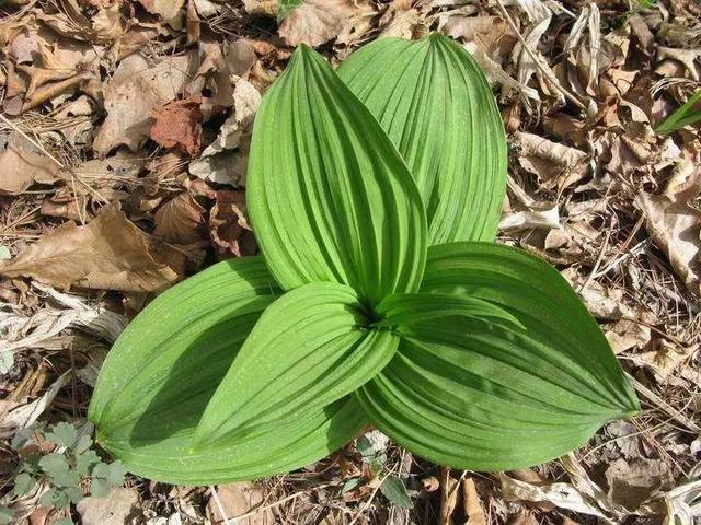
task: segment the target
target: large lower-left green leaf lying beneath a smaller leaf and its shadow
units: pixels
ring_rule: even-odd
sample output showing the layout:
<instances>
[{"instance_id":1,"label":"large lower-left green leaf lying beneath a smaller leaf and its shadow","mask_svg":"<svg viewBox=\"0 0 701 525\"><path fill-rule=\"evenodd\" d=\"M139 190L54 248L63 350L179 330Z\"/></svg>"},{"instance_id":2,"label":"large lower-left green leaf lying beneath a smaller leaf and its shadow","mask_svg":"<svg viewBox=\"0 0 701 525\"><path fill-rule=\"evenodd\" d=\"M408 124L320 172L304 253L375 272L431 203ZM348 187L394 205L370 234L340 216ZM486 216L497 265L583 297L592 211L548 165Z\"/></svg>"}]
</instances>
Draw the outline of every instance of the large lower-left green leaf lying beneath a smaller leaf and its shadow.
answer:
<instances>
[{"instance_id":1,"label":"large lower-left green leaf lying beneath a smaller leaf and its shadow","mask_svg":"<svg viewBox=\"0 0 701 525\"><path fill-rule=\"evenodd\" d=\"M168 290L129 324L100 373L97 441L140 476L209 485L298 468L363 427L353 401L295 424L192 452L197 423L261 313L281 294L260 257L220 262Z\"/></svg>"}]
</instances>

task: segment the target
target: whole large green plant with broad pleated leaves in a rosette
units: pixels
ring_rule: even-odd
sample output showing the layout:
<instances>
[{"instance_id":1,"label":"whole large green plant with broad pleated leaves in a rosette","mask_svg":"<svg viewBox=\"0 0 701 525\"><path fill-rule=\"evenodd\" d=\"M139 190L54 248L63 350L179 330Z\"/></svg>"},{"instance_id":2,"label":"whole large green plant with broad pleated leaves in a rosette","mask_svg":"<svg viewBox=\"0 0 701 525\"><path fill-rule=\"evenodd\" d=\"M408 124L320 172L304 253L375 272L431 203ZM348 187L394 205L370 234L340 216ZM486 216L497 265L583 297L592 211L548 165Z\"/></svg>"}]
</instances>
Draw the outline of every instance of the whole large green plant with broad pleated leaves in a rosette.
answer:
<instances>
[{"instance_id":1,"label":"whole large green plant with broad pleated leaves in a rosette","mask_svg":"<svg viewBox=\"0 0 701 525\"><path fill-rule=\"evenodd\" d=\"M503 470L639 410L567 282L494 244L506 141L471 57L384 38L337 71L300 46L258 110L262 257L219 262L124 331L90 406L131 471L260 478L375 425L436 463Z\"/></svg>"}]
</instances>

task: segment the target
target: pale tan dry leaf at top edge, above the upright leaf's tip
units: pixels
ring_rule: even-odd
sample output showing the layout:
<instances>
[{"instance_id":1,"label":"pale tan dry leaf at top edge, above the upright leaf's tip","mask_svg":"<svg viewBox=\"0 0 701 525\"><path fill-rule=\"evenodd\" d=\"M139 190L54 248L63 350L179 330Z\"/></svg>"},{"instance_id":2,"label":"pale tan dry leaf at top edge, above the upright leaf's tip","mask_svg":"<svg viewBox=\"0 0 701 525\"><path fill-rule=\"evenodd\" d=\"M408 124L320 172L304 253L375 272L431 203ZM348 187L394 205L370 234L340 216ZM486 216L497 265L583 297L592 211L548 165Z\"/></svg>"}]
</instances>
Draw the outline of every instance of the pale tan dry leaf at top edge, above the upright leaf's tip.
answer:
<instances>
[{"instance_id":1,"label":"pale tan dry leaf at top edge, above the upright leaf's tip","mask_svg":"<svg viewBox=\"0 0 701 525\"><path fill-rule=\"evenodd\" d=\"M285 16L278 33L290 46L317 47L338 36L357 14L353 0L304 0Z\"/></svg>"}]
</instances>

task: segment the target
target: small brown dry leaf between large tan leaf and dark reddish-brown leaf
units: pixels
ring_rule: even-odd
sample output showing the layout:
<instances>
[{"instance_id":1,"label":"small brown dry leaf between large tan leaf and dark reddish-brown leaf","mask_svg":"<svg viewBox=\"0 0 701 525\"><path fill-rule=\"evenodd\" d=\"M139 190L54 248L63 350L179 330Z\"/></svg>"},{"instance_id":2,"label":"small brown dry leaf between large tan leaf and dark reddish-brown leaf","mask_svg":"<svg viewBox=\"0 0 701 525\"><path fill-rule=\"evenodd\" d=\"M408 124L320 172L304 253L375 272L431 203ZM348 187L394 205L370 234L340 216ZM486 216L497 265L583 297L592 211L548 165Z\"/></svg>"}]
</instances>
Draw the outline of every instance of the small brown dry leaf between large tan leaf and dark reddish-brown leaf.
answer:
<instances>
[{"instance_id":1,"label":"small brown dry leaf between large tan leaf and dark reddish-brown leaf","mask_svg":"<svg viewBox=\"0 0 701 525\"><path fill-rule=\"evenodd\" d=\"M153 233L170 243L192 244L203 240L205 208L188 192L172 198L156 212Z\"/></svg>"}]
</instances>

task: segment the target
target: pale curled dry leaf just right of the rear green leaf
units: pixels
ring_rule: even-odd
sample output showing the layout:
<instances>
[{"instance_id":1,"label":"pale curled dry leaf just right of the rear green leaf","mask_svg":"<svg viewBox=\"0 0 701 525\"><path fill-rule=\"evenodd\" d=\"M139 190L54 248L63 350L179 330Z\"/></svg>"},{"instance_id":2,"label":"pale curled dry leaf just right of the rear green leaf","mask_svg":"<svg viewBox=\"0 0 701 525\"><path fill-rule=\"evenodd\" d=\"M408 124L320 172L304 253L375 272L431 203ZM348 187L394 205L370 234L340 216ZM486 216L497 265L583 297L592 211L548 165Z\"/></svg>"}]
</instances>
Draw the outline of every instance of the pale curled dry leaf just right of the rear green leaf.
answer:
<instances>
[{"instance_id":1,"label":"pale curled dry leaf just right of the rear green leaf","mask_svg":"<svg viewBox=\"0 0 701 525\"><path fill-rule=\"evenodd\" d=\"M537 175L548 189L566 188L587 174L588 155L584 151L521 131L514 133L514 140L521 167Z\"/></svg>"}]
</instances>

